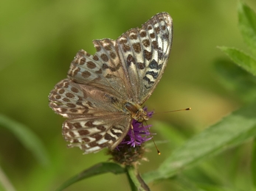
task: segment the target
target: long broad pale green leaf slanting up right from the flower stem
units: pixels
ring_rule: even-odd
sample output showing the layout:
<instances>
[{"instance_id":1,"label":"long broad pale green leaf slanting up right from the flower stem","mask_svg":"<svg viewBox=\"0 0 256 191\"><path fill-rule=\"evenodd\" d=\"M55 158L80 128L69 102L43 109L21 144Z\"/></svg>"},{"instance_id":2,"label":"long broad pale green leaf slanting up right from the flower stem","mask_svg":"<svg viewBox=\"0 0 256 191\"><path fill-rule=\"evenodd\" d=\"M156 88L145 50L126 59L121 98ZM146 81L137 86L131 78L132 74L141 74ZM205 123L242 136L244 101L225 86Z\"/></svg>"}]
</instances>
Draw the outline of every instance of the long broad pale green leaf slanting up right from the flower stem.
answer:
<instances>
[{"instance_id":1,"label":"long broad pale green leaf slanting up right from the flower stem","mask_svg":"<svg viewBox=\"0 0 256 191\"><path fill-rule=\"evenodd\" d=\"M238 109L176 149L158 170L142 176L146 182L169 179L181 170L256 136L256 104Z\"/></svg>"}]
</instances>

